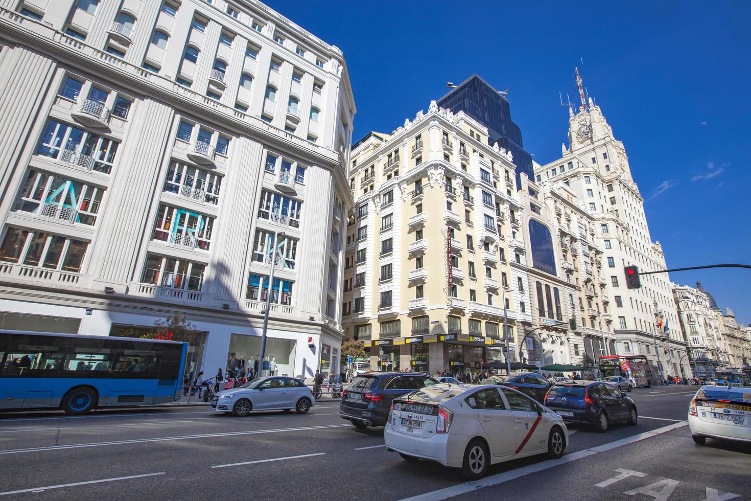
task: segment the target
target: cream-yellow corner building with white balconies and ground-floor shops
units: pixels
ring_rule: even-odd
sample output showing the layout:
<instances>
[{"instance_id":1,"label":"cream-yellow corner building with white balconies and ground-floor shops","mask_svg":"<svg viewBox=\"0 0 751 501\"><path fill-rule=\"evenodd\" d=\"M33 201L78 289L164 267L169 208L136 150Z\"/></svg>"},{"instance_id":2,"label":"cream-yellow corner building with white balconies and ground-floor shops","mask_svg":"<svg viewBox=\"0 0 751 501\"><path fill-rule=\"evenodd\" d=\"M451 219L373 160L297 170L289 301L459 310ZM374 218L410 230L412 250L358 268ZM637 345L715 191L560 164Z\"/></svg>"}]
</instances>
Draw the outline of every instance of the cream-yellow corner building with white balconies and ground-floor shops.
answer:
<instances>
[{"instance_id":1,"label":"cream-yellow corner building with white balconies and ground-floor shops","mask_svg":"<svg viewBox=\"0 0 751 501\"><path fill-rule=\"evenodd\" d=\"M532 320L517 289L529 284L513 181L511 155L488 146L487 129L435 101L353 146L342 325L374 369L478 372L505 361L504 297L511 340Z\"/></svg>"}]
</instances>

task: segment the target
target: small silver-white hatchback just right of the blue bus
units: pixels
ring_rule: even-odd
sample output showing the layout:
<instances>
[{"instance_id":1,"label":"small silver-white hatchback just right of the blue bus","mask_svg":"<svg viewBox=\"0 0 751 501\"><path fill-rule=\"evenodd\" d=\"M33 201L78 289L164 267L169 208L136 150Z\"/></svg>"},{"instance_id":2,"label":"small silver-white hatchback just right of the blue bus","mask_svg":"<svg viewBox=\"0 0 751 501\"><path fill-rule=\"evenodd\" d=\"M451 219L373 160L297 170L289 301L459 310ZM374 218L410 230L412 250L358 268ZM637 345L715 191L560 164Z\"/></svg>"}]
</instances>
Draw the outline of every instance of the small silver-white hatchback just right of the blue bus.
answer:
<instances>
[{"instance_id":1,"label":"small silver-white hatchback just right of the blue bus","mask_svg":"<svg viewBox=\"0 0 751 501\"><path fill-rule=\"evenodd\" d=\"M295 409L298 414L305 414L314 403L312 391L300 379L266 377L254 379L240 388L220 391L211 399L211 409L237 416L276 409Z\"/></svg>"}]
</instances>

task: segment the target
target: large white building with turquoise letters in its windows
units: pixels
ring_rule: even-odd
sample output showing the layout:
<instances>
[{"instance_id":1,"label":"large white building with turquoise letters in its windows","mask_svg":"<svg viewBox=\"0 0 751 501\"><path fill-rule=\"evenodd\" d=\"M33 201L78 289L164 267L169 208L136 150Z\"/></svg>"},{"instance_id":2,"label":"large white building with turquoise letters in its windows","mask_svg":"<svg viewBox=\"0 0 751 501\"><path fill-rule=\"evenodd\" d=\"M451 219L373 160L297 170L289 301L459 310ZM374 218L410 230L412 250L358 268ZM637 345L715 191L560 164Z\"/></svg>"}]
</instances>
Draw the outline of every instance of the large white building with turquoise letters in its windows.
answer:
<instances>
[{"instance_id":1,"label":"large white building with turquoise letters in its windows","mask_svg":"<svg viewBox=\"0 0 751 501\"><path fill-rule=\"evenodd\" d=\"M253 0L0 0L0 326L137 336L191 368L338 368L354 101L341 51ZM323 284L323 286L321 286Z\"/></svg>"}]
</instances>

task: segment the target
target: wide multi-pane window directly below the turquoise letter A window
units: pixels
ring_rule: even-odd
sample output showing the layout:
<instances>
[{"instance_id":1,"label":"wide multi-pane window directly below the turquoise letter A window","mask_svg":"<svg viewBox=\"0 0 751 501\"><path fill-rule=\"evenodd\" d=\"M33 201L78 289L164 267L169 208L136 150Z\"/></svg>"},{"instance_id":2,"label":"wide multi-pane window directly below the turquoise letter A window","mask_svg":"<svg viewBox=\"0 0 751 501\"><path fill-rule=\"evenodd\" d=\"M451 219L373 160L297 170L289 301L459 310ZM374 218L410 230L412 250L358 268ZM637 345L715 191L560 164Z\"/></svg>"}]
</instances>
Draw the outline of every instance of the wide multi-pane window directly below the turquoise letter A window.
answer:
<instances>
[{"instance_id":1,"label":"wide multi-pane window directly below the turquoise letter A window","mask_svg":"<svg viewBox=\"0 0 751 501\"><path fill-rule=\"evenodd\" d=\"M78 273L89 242L9 226L0 244L0 261Z\"/></svg>"}]
</instances>

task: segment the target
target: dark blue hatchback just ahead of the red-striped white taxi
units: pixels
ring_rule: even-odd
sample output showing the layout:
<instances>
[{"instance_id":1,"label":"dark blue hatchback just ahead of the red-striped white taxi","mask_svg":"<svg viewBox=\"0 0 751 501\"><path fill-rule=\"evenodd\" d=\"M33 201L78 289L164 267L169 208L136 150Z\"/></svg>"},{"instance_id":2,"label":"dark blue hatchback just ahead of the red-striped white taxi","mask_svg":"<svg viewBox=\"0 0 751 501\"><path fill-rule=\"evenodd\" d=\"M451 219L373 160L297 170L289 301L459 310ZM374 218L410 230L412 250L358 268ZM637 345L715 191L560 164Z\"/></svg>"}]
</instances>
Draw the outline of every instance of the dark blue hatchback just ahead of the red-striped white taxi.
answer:
<instances>
[{"instance_id":1,"label":"dark blue hatchback just ahead of the red-striped white taxi","mask_svg":"<svg viewBox=\"0 0 751 501\"><path fill-rule=\"evenodd\" d=\"M613 385L599 381L558 383L544 405L564 421L584 423L605 433L613 423L636 424L636 403Z\"/></svg>"}]
</instances>

